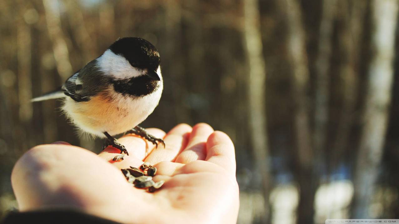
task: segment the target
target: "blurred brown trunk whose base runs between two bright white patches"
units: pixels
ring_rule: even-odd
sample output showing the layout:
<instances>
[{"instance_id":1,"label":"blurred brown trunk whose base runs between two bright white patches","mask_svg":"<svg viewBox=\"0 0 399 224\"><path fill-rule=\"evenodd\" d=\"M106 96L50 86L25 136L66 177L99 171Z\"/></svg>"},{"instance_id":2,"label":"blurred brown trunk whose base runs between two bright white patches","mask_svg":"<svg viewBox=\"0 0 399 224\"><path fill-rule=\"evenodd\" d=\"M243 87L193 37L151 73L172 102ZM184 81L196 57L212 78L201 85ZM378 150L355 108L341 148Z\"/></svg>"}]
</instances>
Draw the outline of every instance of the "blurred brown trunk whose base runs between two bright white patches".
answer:
<instances>
[{"instance_id":1,"label":"blurred brown trunk whose base runs between two bright white patches","mask_svg":"<svg viewBox=\"0 0 399 224\"><path fill-rule=\"evenodd\" d=\"M296 177L299 183L300 201L298 220L302 223L313 223L314 186L312 180L313 150L310 139L308 87L309 67L306 53L306 37L302 24L302 14L297 0L276 0L277 6L286 17L287 50L293 70L292 94L295 100L294 124L298 149Z\"/></svg>"}]
</instances>

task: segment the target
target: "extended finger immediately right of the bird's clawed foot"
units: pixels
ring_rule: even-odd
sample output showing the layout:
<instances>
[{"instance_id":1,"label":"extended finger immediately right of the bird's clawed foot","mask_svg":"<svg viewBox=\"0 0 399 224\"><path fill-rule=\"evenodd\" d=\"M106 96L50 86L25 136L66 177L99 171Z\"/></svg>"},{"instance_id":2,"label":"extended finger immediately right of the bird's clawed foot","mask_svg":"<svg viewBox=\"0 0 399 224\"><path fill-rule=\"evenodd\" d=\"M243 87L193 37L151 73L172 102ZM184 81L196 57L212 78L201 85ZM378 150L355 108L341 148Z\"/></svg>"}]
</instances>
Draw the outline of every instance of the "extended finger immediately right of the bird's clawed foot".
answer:
<instances>
[{"instance_id":1,"label":"extended finger immediately right of the bird's clawed foot","mask_svg":"<svg viewBox=\"0 0 399 224\"><path fill-rule=\"evenodd\" d=\"M180 151L186 147L191 131L192 128L188 124L177 125L164 137L165 147L158 145L158 148L154 149L145 161L151 164L160 161L174 161Z\"/></svg>"}]
</instances>

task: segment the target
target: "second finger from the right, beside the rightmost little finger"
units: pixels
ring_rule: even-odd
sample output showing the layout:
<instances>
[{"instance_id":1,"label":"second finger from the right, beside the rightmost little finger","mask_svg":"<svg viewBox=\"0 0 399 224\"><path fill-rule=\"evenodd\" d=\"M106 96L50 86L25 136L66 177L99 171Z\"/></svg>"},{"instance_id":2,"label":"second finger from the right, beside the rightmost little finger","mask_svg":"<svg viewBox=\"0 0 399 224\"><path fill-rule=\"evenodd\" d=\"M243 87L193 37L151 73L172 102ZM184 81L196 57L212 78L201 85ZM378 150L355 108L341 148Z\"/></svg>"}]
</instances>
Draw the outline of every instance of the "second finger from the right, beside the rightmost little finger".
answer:
<instances>
[{"instance_id":1,"label":"second finger from the right, beside the rightmost little finger","mask_svg":"<svg viewBox=\"0 0 399 224\"><path fill-rule=\"evenodd\" d=\"M204 160L206 157L206 140L213 132L209 124L199 123L193 127L188 145L176 158L176 163L190 163L195 160Z\"/></svg>"}]
</instances>

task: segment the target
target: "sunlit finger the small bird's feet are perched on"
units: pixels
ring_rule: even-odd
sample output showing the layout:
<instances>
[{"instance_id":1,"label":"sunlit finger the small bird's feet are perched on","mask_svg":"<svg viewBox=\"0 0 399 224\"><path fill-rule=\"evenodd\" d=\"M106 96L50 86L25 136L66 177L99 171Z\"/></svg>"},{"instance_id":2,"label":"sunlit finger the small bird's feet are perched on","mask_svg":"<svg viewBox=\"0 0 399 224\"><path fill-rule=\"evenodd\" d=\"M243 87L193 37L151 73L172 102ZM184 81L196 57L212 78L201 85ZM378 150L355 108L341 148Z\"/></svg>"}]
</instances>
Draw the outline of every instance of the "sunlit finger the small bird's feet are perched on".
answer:
<instances>
[{"instance_id":1,"label":"sunlit finger the small bird's feet are perched on","mask_svg":"<svg viewBox=\"0 0 399 224\"><path fill-rule=\"evenodd\" d=\"M148 132L148 134L151 134L156 138L162 139L165 136L165 132L158 128L147 128L146 131ZM134 134L127 134L125 136L122 136L118 139L118 142L126 147L129 156L133 156L135 159L139 160L144 160L146 155L148 155L148 153L150 153L150 151L155 147L155 145L151 142ZM108 146L99 155L101 157L108 157L106 153L120 153L120 150L112 146Z\"/></svg>"}]
</instances>

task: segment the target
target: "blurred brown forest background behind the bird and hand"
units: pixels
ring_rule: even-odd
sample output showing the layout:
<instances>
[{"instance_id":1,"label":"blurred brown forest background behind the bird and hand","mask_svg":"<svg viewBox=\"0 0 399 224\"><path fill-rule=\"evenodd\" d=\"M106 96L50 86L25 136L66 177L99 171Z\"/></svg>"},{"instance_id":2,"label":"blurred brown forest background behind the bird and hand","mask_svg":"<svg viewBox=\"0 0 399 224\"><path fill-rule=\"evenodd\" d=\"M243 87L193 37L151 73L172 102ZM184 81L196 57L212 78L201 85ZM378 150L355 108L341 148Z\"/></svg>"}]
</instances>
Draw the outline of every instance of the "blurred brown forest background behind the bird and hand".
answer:
<instances>
[{"instance_id":1,"label":"blurred brown forest background behind the bird and hand","mask_svg":"<svg viewBox=\"0 0 399 224\"><path fill-rule=\"evenodd\" d=\"M239 224L399 218L397 14L397 0L1 0L1 216L25 151L103 143L60 102L29 100L135 36L159 50L165 86L142 126L231 136Z\"/></svg>"}]
</instances>

